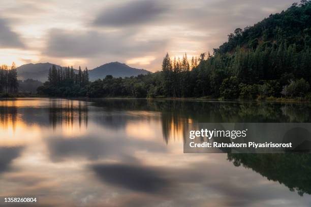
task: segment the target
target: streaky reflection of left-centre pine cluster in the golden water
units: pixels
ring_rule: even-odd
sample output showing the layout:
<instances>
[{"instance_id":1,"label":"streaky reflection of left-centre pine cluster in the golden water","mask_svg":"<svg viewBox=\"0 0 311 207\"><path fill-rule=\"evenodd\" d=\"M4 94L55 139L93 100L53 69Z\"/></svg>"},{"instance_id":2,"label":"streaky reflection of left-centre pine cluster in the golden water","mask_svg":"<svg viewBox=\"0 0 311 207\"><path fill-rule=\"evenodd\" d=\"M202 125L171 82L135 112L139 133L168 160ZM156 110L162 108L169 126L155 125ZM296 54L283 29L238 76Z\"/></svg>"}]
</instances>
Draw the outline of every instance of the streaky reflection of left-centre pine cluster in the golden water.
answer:
<instances>
[{"instance_id":1,"label":"streaky reflection of left-centre pine cluster in the golden water","mask_svg":"<svg viewBox=\"0 0 311 207\"><path fill-rule=\"evenodd\" d=\"M79 127L81 127L83 122L87 127L88 109L86 102L78 100L51 100L49 120L54 129L57 125L72 127L74 121L79 122Z\"/></svg>"}]
</instances>

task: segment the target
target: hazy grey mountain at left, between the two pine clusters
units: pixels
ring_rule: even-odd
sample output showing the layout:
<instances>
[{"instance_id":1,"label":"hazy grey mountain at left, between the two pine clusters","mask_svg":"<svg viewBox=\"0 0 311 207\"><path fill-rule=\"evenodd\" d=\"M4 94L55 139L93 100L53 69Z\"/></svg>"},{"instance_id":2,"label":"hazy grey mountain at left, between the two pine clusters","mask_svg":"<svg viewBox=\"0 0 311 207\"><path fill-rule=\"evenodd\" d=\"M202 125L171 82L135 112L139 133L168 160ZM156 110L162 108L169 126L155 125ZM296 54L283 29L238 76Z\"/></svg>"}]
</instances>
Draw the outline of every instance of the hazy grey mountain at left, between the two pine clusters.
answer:
<instances>
[{"instance_id":1,"label":"hazy grey mountain at left, between the two pine clusters","mask_svg":"<svg viewBox=\"0 0 311 207\"><path fill-rule=\"evenodd\" d=\"M34 79L41 82L47 81L49 68L52 67L52 63L29 63L17 67L18 80ZM59 65L56 65L59 68Z\"/></svg>"}]
</instances>

